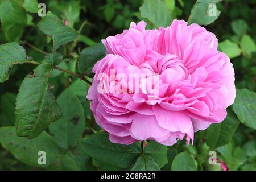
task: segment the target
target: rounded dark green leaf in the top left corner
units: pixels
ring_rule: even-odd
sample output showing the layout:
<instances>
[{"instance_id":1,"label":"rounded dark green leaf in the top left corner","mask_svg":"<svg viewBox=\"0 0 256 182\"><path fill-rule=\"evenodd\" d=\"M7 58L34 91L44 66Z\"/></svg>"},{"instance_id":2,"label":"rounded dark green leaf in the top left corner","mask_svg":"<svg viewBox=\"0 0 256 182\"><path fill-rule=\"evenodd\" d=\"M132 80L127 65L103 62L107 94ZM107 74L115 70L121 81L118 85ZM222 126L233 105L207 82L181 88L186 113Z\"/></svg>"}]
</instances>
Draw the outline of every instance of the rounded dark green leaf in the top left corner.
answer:
<instances>
[{"instance_id":1,"label":"rounded dark green leaf in the top left corner","mask_svg":"<svg viewBox=\"0 0 256 182\"><path fill-rule=\"evenodd\" d=\"M5 0L0 5L1 28L9 42L18 41L27 24L27 13L13 0Z\"/></svg>"}]
</instances>

